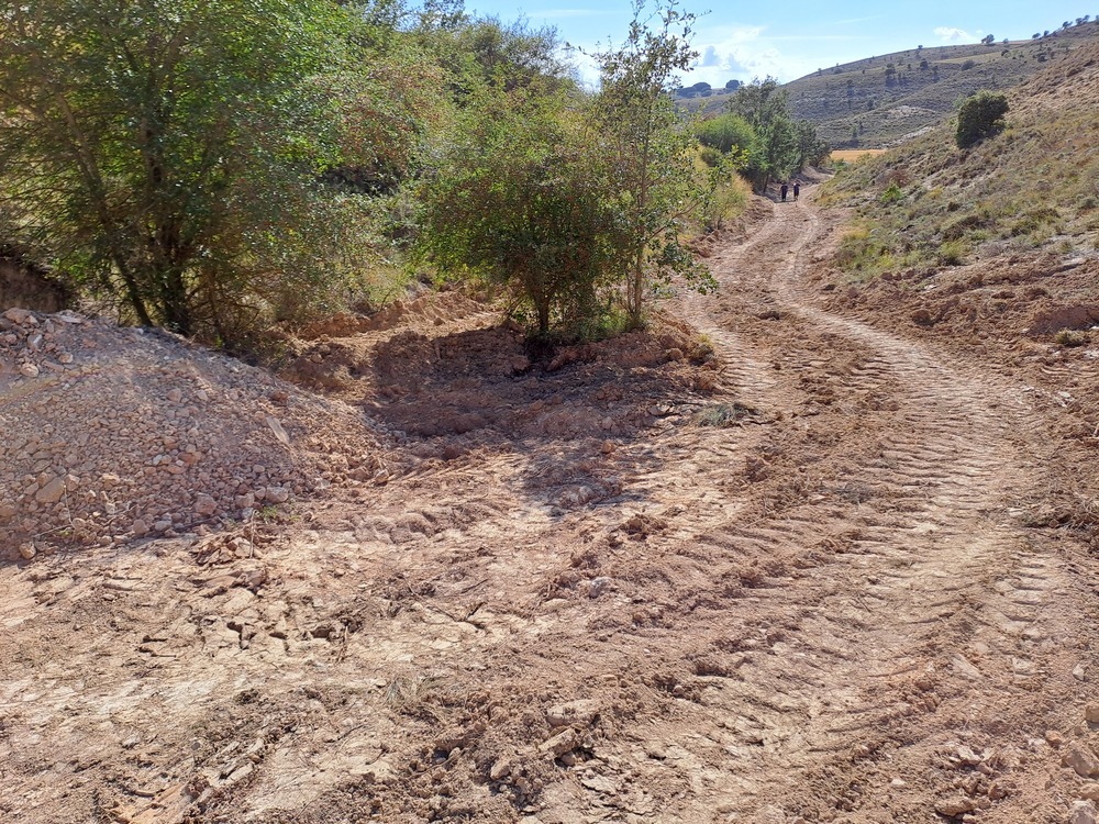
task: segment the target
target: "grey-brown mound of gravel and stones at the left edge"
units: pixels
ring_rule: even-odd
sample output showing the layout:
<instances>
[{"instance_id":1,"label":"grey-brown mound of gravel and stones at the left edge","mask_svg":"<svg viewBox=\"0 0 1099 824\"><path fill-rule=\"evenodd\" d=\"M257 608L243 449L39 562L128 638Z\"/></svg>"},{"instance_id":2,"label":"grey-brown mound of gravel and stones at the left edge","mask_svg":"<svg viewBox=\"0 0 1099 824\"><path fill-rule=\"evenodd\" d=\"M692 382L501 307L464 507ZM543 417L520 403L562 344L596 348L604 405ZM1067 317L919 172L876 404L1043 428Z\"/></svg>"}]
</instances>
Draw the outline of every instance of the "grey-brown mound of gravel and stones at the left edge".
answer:
<instances>
[{"instance_id":1,"label":"grey-brown mound of gravel and stones at the left edge","mask_svg":"<svg viewBox=\"0 0 1099 824\"><path fill-rule=\"evenodd\" d=\"M359 412L155 330L0 316L0 557L203 532L386 479Z\"/></svg>"}]
</instances>

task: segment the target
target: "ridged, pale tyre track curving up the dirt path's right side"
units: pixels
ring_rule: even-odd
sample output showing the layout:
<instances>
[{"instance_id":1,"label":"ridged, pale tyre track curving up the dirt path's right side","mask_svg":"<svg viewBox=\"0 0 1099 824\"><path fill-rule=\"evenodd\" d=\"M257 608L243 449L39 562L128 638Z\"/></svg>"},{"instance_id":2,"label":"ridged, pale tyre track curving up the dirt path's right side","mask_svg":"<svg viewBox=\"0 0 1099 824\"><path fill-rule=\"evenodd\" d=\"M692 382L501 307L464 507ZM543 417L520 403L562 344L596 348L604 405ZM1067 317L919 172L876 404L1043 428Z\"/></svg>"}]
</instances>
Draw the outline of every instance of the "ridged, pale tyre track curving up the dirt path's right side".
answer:
<instances>
[{"instance_id":1,"label":"ridged, pale tyre track curving up the dirt path's right side","mask_svg":"<svg viewBox=\"0 0 1099 824\"><path fill-rule=\"evenodd\" d=\"M833 346L861 353L864 363L844 376L843 390L886 388L896 410L864 422L864 438L876 436L879 449L851 472L869 486L869 500L832 524L847 535L844 552L809 578L753 590L759 613L785 613L793 625L769 655L739 669L741 680L726 684L711 706L728 714L714 721L732 728L726 746L742 760L736 771L768 777L769 787L764 792L763 782L747 781L719 809L761 821L856 812L869 817L852 821L878 821L874 816L888 809L889 820L926 821L936 815L936 798L956 788L901 789L911 780L904 778L928 772L929 753L900 745L922 736L924 744L956 746L968 737L979 749L986 728L1019 717L1006 705L1020 703L1020 695L1035 714L1051 694L1069 699L1076 684L1055 658L1086 637L1087 627L1079 616L1051 611L1054 595L1074 588L1072 576L1056 547L1009 513L1012 498L1041 494L1048 458L1029 443L1041 421L1024 408L1022 388L992 385L917 344L810 305L798 276L818 232L811 209L776 207L774 222L719 259L723 290L734 301L750 296L793 315L797 327L787 334L820 342L828 333ZM736 334L741 318L707 316L699 300L686 304L691 320L732 353L735 382L763 402L773 399L770 370L745 356L752 346ZM781 553L829 528L784 525L787 534L777 534L777 524L756 524L754 549ZM728 531L745 535L735 524ZM814 590L824 594L813 598ZM811 609L798 610L802 597ZM1046 692L1044 704L1033 701L1035 691ZM964 730L952 728L952 701L966 704ZM1025 736L1015 737L1026 746ZM744 770L743 760L753 767ZM1003 798L1002 786L989 793L990 786L970 787L955 808L942 809L976 816ZM1040 803L1032 799L1019 817L1002 806L989 815L1029 821ZM685 820L706 820L701 804L684 812Z\"/></svg>"}]
</instances>

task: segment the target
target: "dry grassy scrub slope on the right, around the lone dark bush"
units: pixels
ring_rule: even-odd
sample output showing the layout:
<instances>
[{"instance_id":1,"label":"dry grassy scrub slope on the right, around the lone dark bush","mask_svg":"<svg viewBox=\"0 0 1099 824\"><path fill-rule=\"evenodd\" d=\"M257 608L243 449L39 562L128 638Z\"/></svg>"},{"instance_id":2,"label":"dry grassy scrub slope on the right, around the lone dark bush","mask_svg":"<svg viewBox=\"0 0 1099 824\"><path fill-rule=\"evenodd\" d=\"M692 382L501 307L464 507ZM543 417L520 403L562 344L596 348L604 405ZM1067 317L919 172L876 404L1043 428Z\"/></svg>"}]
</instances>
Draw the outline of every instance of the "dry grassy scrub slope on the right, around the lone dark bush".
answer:
<instances>
[{"instance_id":1,"label":"dry grassy scrub slope on the right, around the lone dark bush","mask_svg":"<svg viewBox=\"0 0 1099 824\"><path fill-rule=\"evenodd\" d=\"M1099 122L1088 107L1036 107L1028 92L1094 99L1097 65L1089 46L1012 91L1003 131L968 148L944 125L844 168L824 196L855 211L837 264L864 279L1034 250L1094 255Z\"/></svg>"}]
</instances>

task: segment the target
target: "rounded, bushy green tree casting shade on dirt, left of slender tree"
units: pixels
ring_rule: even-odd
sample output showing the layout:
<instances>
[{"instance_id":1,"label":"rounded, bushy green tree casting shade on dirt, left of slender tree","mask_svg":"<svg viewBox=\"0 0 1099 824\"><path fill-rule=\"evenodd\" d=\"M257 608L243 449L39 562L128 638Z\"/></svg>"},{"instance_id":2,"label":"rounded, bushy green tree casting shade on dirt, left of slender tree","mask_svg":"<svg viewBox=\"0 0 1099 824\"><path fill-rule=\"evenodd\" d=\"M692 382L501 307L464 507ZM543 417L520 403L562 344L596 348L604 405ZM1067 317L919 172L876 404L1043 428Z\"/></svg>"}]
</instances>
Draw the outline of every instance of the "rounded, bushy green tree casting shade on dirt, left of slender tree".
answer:
<instances>
[{"instance_id":1,"label":"rounded, bushy green tree casting shade on dirt, left of slender tree","mask_svg":"<svg viewBox=\"0 0 1099 824\"><path fill-rule=\"evenodd\" d=\"M537 336L599 312L612 218L579 101L537 83L482 89L421 187L418 257L511 290Z\"/></svg>"}]
</instances>

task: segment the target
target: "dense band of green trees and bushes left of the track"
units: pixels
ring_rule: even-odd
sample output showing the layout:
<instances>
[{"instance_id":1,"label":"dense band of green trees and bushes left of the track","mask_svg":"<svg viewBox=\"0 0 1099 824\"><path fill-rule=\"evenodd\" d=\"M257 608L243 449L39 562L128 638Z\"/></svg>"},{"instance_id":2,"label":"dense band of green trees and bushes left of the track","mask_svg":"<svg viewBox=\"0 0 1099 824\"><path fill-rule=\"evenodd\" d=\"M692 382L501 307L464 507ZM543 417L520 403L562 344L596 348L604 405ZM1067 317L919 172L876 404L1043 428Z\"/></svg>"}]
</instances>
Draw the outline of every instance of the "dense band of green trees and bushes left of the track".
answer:
<instances>
[{"instance_id":1,"label":"dense band of green trees and bushes left of the track","mask_svg":"<svg viewBox=\"0 0 1099 824\"><path fill-rule=\"evenodd\" d=\"M552 31L447 2L0 0L0 243L223 344L413 267L502 290L542 334L637 325L673 278L712 285L686 244L737 169L808 157L768 88L751 145L700 160L673 103L692 21L639 5L591 91Z\"/></svg>"}]
</instances>

